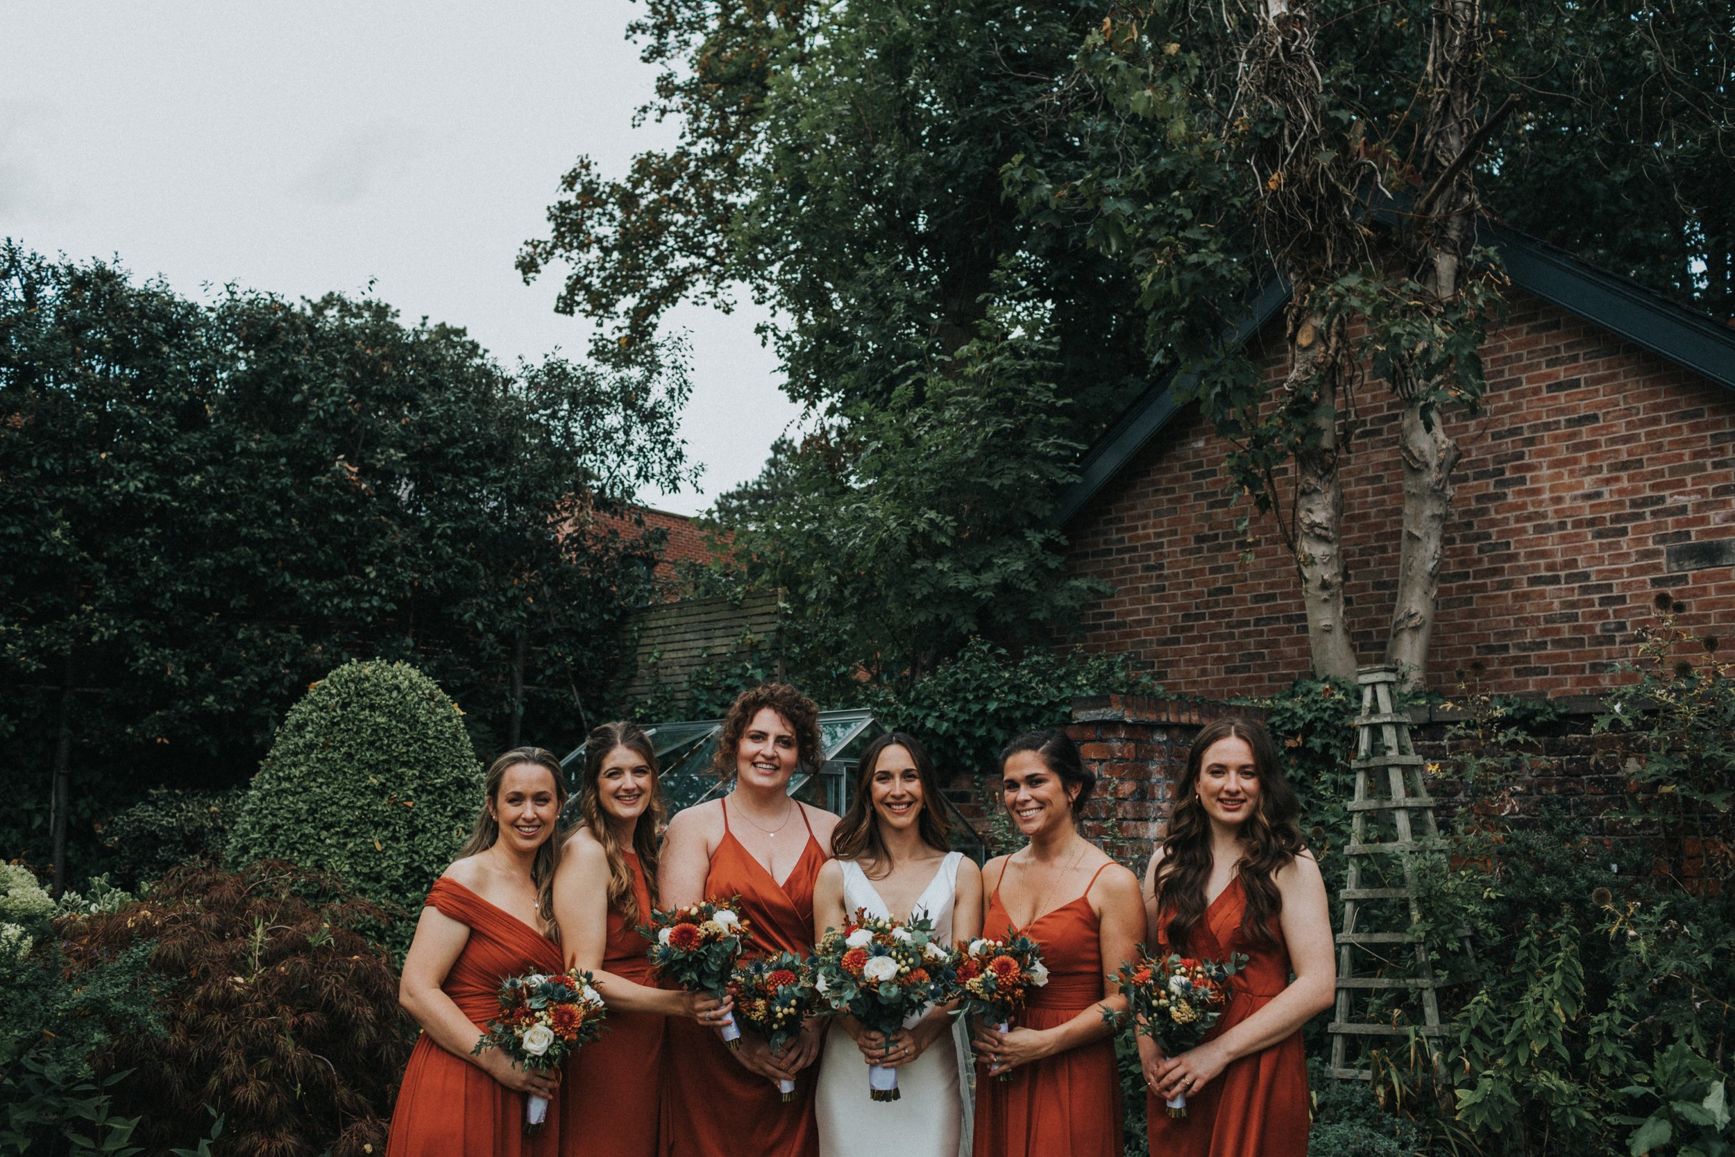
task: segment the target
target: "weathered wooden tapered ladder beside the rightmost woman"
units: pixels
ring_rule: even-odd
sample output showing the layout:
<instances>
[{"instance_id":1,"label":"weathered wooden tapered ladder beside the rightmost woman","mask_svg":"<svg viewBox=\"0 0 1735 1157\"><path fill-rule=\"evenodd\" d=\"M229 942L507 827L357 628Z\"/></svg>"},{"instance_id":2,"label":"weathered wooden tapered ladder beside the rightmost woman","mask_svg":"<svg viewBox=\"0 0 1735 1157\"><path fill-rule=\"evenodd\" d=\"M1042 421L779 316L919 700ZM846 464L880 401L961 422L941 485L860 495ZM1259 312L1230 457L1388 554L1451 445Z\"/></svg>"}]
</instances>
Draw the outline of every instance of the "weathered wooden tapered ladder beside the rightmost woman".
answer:
<instances>
[{"instance_id":1,"label":"weathered wooden tapered ladder beside the rightmost woman","mask_svg":"<svg viewBox=\"0 0 1735 1157\"><path fill-rule=\"evenodd\" d=\"M1435 1041L1445 1029L1433 966L1424 945L1416 944L1409 952L1402 945L1409 942L1409 926L1421 921L1416 857L1438 853L1445 845L1423 782L1423 758L1411 742L1409 715L1395 703L1398 670L1362 668L1355 682L1362 687L1362 713L1355 720L1350 765L1355 798L1345 848L1348 873L1339 893L1338 1010L1327 1032L1331 1075L1367 1081L1372 1077L1367 1049L1378 1037L1419 1034L1438 1067ZM1417 1001L1421 1023L1414 1015Z\"/></svg>"}]
</instances>

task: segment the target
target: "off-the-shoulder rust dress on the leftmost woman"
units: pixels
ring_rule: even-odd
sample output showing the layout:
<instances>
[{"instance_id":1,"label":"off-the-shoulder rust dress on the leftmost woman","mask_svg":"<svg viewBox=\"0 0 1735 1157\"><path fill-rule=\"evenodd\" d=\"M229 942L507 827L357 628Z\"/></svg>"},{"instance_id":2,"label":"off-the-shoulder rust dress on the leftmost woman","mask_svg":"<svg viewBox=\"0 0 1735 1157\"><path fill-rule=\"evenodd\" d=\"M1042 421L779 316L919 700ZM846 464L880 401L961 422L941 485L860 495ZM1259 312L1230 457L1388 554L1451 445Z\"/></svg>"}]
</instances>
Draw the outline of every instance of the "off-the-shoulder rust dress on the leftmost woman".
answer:
<instances>
[{"instance_id":1,"label":"off-the-shoulder rust dress on the leftmost woman","mask_svg":"<svg viewBox=\"0 0 1735 1157\"><path fill-rule=\"evenodd\" d=\"M435 907L470 928L441 990L470 1018L477 1036L500 1011L501 980L560 971L560 949L553 940L456 879L435 879L423 907ZM429 1034L416 1039L392 1110L385 1157L555 1157L559 1148L559 1098L548 1107L548 1124L527 1138L524 1093L453 1056Z\"/></svg>"}]
</instances>

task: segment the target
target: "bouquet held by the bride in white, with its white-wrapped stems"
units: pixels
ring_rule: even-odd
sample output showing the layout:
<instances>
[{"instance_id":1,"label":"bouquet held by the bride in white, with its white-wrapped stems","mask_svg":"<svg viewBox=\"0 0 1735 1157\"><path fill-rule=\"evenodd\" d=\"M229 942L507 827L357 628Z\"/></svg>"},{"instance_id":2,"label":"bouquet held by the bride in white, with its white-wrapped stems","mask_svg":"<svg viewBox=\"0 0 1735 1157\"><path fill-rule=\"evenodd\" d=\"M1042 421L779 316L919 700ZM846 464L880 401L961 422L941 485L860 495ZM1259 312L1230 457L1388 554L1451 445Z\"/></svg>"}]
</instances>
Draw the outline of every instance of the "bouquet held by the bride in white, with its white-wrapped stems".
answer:
<instances>
[{"instance_id":1,"label":"bouquet held by the bride in white, with its white-wrapped stems","mask_svg":"<svg viewBox=\"0 0 1735 1157\"><path fill-rule=\"evenodd\" d=\"M821 937L815 987L831 1011L892 1036L909 1016L946 999L947 958L926 916L897 921L855 909L854 921ZM895 1101L897 1069L869 1063L868 1089L876 1101Z\"/></svg>"}]
</instances>

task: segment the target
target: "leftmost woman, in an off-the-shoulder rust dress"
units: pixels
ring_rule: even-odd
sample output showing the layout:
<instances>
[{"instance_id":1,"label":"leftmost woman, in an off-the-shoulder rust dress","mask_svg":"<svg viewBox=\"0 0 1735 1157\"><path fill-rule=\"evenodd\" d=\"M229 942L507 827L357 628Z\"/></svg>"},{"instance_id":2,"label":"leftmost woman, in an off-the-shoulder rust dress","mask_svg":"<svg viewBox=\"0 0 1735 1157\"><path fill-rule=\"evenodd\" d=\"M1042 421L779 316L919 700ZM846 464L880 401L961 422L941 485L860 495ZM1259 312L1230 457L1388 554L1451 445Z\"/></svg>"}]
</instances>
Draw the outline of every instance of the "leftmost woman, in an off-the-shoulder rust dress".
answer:
<instances>
[{"instance_id":1,"label":"leftmost woman, in an off-the-shoulder rust dress","mask_svg":"<svg viewBox=\"0 0 1735 1157\"><path fill-rule=\"evenodd\" d=\"M488 768L470 841L429 892L404 958L397 999L422 1025L392 1112L387 1157L555 1157L559 1100L534 1138L526 1095L557 1079L524 1072L498 1049L472 1055L500 1011L505 977L560 971L548 938L555 824L566 803L560 762L515 748Z\"/></svg>"}]
</instances>

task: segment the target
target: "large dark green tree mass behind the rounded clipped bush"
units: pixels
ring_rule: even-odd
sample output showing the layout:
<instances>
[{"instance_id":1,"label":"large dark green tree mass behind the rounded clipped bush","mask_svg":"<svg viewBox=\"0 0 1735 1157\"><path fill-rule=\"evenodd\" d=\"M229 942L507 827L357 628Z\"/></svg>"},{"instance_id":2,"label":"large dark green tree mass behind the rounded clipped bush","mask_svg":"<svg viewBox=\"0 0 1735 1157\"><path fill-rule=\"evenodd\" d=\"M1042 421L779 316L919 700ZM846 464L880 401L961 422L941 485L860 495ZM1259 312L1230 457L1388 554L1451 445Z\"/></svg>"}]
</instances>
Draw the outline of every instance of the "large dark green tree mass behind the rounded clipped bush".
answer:
<instances>
[{"instance_id":1,"label":"large dark green tree mass behind the rounded clipped bush","mask_svg":"<svg viewBox=\"0 0 1735 1157\"><path fill-rule=\"evenodd\" d=\"M507 371L382 302L198 305L9 243L0 742L54 791L7 847L64 885L69 834L232 784L350 657L427 670L484 749L581 732L658 546L597 515L685 475L685 392L678 347Z\"/></svg>"}]
</instances>

